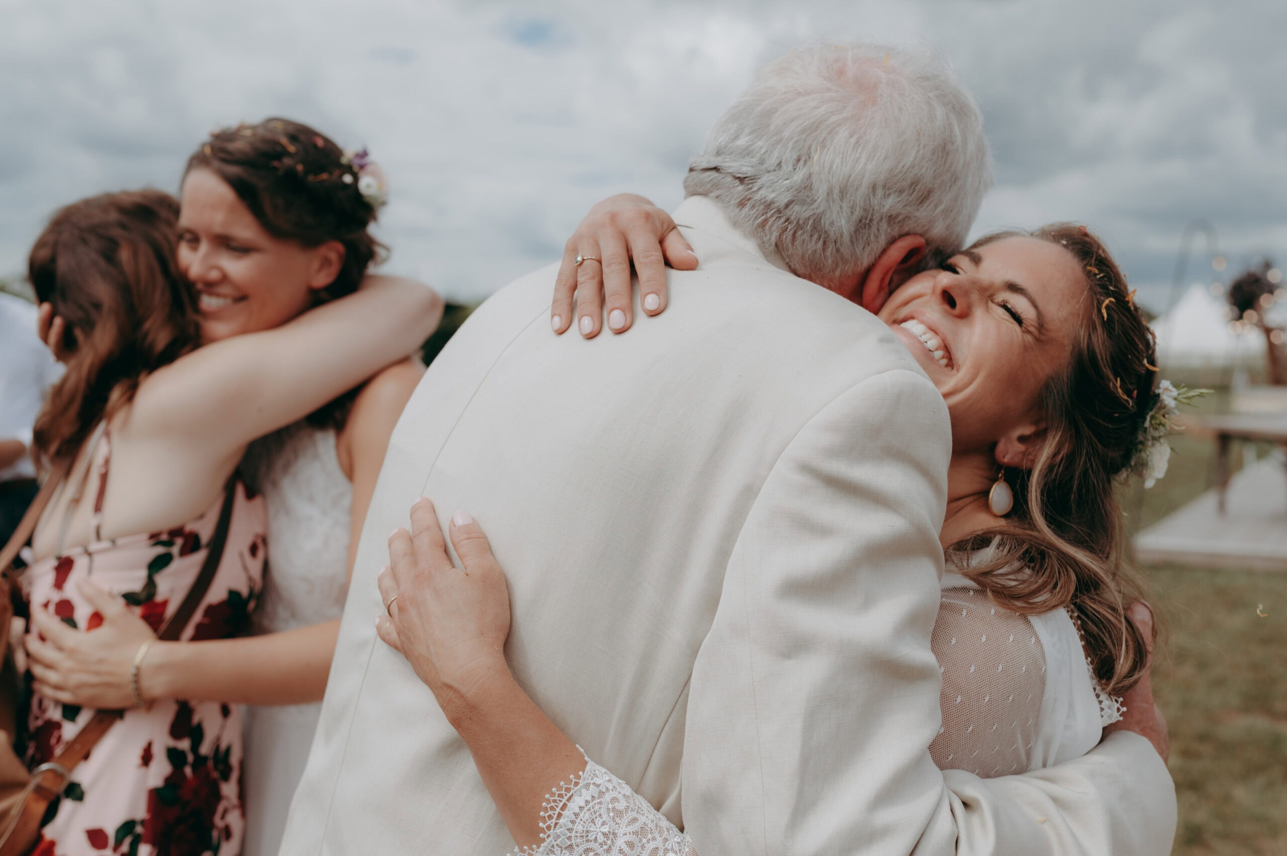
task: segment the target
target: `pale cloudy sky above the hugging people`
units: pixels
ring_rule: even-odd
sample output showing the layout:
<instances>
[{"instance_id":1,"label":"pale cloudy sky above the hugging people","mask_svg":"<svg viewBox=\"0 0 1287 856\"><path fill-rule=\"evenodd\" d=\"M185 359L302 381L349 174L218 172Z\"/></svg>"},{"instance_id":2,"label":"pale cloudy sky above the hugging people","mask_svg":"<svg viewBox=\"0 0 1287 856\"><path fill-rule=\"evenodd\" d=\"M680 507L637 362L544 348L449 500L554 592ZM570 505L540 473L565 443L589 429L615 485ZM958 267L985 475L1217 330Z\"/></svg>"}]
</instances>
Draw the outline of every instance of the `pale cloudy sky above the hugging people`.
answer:
<instances>
[{"instance_id":1,"label":"pale cloudy sky above the hugging people","mask_svg":"<svg viewBox=\"0 0 1287 856\"><path fill-rule=\"evenodd\" d=\"M0 0L0 277L54 207L174 191L210 129L282 115L385 166L389 269L480 297L557 257L609 193L677 205L755 68L816 39L950 58L996 161L976 232L1090 223L1156 308L1193 219L1227 273L1287 257L1282 0Z\"/></svg>"}]
</instances>

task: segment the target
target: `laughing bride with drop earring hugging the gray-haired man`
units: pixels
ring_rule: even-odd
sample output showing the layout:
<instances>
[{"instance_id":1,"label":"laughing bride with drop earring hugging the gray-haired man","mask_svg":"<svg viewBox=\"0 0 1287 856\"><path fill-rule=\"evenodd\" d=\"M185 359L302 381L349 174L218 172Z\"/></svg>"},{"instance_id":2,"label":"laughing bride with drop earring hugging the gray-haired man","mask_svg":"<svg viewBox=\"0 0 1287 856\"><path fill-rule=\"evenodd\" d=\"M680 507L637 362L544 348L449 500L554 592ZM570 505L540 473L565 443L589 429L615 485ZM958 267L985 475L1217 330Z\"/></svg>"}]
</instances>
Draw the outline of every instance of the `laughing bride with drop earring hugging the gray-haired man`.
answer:
<instances>
[{"instance_id":1,"label":"laughing bride with drop earring hugging the gray-haired man","mask_svg":"<svg viewBox=\"0 0 1287 856\"><path fill-rule=\"evenodd\" d=\"M1152 624L1127 615L1113 494L1115 476L1147 471L1153 429L1174 414L1148 327L1107 250L1073 225L985 238L879 315L943 394L956 447L931 640L942 727L927 749L945 775L979 779L1075 759L1124 726L1122 694L1152 716ZM432 503L411 517L390 538L377 628L461 731L519 852L696 856L678 807L663 814L583 756L514 680L506 583L477 524L450 521L462 574ZM1165 758L1165 736L1151 739Z\"/></svg>"}]
</instances>

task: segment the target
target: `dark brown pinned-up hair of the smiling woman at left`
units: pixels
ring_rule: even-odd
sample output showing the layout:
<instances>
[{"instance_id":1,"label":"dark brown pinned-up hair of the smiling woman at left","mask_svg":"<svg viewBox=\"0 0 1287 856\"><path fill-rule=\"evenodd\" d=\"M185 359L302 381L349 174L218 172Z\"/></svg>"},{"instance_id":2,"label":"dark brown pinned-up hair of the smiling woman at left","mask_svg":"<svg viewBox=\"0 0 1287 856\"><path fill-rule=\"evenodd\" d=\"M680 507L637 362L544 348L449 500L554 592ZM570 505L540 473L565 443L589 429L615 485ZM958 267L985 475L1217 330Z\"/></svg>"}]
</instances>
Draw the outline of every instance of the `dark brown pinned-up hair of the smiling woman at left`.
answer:
<instances>
[{"instance_id":1,"label":"dark brown pinned-up hair of the smiling woman at left","mask_svg":"<svg viewBox=\"0 0 1287 856\"><path fill-rule=\"evenodd\" d=\"M376 209L358 191L358 166L329 136L288 118L265 118L210 135L184 175L206 169L228 183L264 230L317 247L344 246L344 265L317 302L358 290L367 269L387 254L368 228ZM317 427L344 427L356 390L340 395L308 417Z\"/></svg>"}]
</instances>

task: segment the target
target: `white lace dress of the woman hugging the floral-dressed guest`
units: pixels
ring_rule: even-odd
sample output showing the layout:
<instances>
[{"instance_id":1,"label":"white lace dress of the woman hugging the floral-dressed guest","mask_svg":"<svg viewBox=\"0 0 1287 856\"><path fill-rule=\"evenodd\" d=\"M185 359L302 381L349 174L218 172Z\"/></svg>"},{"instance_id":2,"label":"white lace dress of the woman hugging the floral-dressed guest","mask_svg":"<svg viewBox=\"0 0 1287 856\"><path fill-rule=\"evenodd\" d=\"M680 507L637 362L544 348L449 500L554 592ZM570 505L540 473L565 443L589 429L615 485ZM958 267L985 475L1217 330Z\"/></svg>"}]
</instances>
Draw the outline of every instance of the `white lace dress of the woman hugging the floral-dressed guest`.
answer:
<instances>
[{"instance_id":1,"label":"white lace dress of the woman hugging the floral-dressed guest","mask_svg":"<svg viewBox=\"0 0 1287 856\"><path fill-rule=\"evenodd\" d=\"M317 624L344 611L353 485L335 443L332 430L292 426L260 449L268 572L256 633ZM243 856L277 856L320 712L320 703L246 709Z\"/></svg>"}]
</instances>

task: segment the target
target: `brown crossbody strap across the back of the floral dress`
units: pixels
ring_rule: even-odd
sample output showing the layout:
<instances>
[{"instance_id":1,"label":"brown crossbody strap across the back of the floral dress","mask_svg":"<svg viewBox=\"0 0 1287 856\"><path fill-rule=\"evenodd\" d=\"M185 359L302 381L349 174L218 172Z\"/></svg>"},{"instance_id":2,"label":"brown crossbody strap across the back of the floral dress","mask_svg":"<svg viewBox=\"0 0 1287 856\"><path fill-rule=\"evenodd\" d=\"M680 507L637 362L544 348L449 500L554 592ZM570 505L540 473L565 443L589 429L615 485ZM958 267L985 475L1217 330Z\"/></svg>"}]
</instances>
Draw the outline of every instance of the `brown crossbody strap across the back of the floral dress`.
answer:
<instances>
[{"instance_id":1,"label":"brown crossbody strap across the back of the floral dress","mask_svg":"<svg viewBox=\"0 0 1287 856\"><path fill-rule=\"evenodd\" d=\"M45 499L48 502L48 497ZM188 626L188 620L201 606L201 601L205 599L206 592L210 591L210 583L215 579L215 573L219 570L219 563L223 560L224 544L228 542L228 528L232 523L233 506L237 502L237 476L233 475L228 479L228 484L224 487L224 503L219 510L219 523L215 524L215 533L210 539L210 546L206 551L206 560L201 565L201 573L192 583L192 588L188 590L187 596L184 596L183 602L179 604L179 609L170 615L169 620L161 627L161 632L157 633L157 638L166 642L172 642L179 638L183 633L183 628ZM39 516L39 512L37 512ZM26 520L24 520L26 521ZM5 551L8 555L8 550ZM89 757L89 753L98 745L98 741L111 731L112 726L125 714L124 711L99 711L90 721L85 723L72 741L58 753L58 757L50 761L48 765L41 765L32 771L32 784L31 796L27 798L26 803L22 806L22 817L14 826L30 826L35 824L35 829L39 830L39 824L45 816L45 811L49 808L49 803L58 797L67 781L71 780L72 771L76 768L81 761ZM49 781L53 779L54 781ZM0 850L0 853L4 853Z\"/></svg>"}]
</instances>

